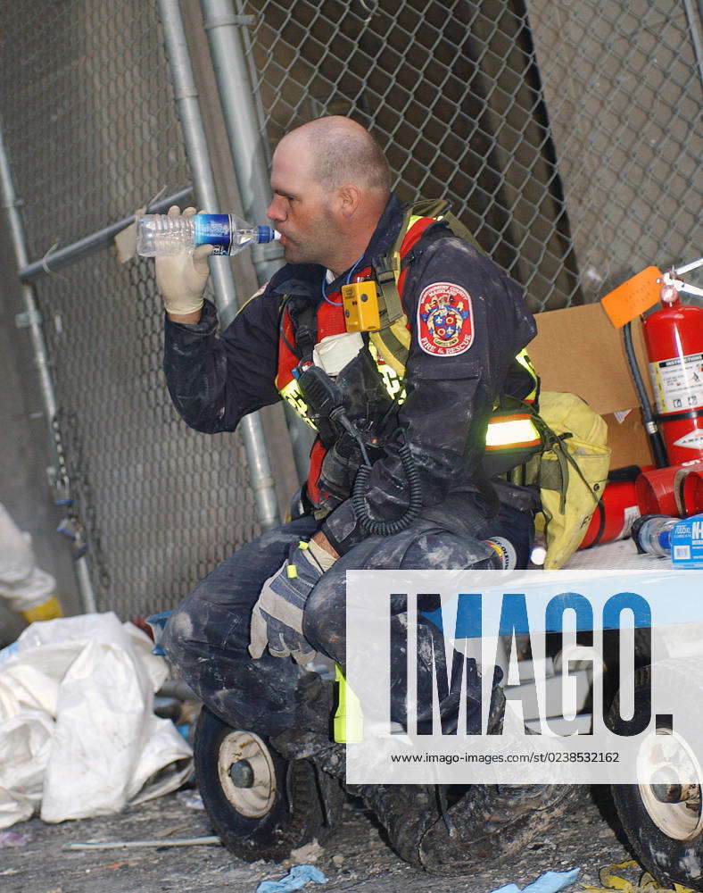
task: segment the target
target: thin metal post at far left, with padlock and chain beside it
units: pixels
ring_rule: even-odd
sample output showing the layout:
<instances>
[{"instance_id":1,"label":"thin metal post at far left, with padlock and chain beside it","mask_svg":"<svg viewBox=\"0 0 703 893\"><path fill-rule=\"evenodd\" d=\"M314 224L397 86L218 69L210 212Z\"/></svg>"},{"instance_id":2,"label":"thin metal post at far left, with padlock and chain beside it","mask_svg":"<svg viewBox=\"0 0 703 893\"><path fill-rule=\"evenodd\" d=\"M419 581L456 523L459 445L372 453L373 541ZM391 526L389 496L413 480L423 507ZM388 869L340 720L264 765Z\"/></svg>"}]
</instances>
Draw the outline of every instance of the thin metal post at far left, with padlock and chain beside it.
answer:
<instances>
[{"instance_id":1,"label":"thin metal post at far left, with padlock and chain beside it","mask_svg":"<svg viewBox=\"0 0 703 893\"><path fill-rule=\"evenodd\" d=\"M24 234L24 226L18 210L20 203L15 195L14 183L12 182L10 159L4 144L2 124L0 124L0 188L2 188L3 206L7 212L7 218L10 223L12 249L14 250L17 267L21 270L26 267L28 263L27 242ZM41 328L41 316L37 310L37 301L35 300L34 289L32 286L23 284L21 286L21 292L25 313L27 314L29 337L31 338L32 349L34 352L34 361L39 375L39 387L41 388L42 399L45 406L49 447L54 454L54 461L58 464L56 441L54 438L54 429L52 427L58 406L54 394L54 382L49 370L44 333ZM76 572L76 581L79 587L79 595L83 610L85 613L95 613L97 610L95 604L95 592L90 580L90 572L86 558L81 556L75 559L73 567Z\"/></svg>"}]
</instances>

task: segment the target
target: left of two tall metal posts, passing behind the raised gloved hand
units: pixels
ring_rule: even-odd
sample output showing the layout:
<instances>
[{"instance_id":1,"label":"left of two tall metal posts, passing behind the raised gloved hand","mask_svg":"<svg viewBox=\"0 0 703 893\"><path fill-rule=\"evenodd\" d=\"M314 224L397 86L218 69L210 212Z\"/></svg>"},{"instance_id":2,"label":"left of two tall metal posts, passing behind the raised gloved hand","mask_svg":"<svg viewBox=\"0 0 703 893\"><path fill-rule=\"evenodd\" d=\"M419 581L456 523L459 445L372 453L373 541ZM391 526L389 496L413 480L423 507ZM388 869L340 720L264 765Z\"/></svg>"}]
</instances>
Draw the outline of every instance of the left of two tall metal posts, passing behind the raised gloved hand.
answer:
<instances>
[{"instance_id":1,"label":"left of two tall metal posts, passing behind the raised gloved hand","mask_svg":"<svg viewBox=\"0 0 703 893\"><path fill-rule=\"evenodd\" d=\"M178 0L159 0L159 14L198 204L204 208L216 208L215 179ZM235 280L227 258L212 258L211 272L219 319L222 325L227 325L237 306ZM255 413L247 415L240 422L239 430L244 440L259 521L264 530L270 530L280 523L280 518L261 420Z\"/></svg>"}]
</instances>

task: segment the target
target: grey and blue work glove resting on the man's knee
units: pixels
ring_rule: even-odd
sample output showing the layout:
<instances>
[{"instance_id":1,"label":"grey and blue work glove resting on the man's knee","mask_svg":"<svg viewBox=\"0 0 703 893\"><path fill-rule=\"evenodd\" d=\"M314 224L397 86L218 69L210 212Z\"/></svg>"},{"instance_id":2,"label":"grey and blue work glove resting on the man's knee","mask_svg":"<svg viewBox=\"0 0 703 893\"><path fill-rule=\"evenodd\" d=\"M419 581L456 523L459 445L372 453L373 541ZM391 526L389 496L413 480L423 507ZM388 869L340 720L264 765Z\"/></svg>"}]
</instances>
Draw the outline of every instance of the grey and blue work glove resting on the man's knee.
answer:
<instances>
[{"instance_id":1,"label":"grey and blue work glove resting on the man's knee","mask_svg":"<svg viewBox=\"0 0 703 893\"><path fill-rule=\"evenodd\" d=\"M261 587L252 611L249 654L261 657L264 648L274 657L291 655L295 663L308 663L316 654L302 635L302 612L311 589L324 573L311 554L310 544L291 547L287 559Z\"/></svg>"}]
</instances>

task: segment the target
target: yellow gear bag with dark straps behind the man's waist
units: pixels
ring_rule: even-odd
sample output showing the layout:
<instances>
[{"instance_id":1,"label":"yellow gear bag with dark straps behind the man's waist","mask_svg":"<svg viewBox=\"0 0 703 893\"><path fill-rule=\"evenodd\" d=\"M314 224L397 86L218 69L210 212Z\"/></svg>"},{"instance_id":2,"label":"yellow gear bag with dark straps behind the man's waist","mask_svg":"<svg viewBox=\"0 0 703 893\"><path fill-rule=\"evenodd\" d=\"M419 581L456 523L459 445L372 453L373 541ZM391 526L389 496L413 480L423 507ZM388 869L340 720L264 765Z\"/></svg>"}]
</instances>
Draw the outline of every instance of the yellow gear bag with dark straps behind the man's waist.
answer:
<instances>
[{"instance_id":1,"label":"yellow gear bag with dark straps behind the man's waist","mask_svg":"<svg viewBox=\"0 0 703 893\"><path fill-rule=\"evenodd\" d=\"M563 567L581 545L608 480L608 426L575 394L542 391L543 450L525 465L525 483L540 488L535 527L546 539L546 570Z\"/></svg>"}]
</instances>

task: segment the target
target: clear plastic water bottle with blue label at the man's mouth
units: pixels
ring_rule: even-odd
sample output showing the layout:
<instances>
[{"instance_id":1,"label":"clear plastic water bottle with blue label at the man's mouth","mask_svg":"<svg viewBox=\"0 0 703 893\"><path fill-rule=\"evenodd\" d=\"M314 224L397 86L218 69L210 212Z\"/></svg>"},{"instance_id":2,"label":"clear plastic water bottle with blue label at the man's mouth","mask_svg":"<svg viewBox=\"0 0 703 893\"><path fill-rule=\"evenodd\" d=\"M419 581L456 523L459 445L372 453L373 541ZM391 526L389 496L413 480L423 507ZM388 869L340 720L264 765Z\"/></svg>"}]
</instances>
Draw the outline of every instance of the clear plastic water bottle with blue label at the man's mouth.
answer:
<instances>
[{"instance_id":1,"label":"clear plastic water bottle with blue label at the man's mouth","mask_svg":"<svg viewBox=\"0 0 703 893\"><path fill-rule=\"evenodd\" d=\"M179 255L199 245L214 246L213 255L236 255L248 245L277 238L271 227L252 226L235 214L145 214L136 221L136 253L142 257Z\"/></svg>"}]
</instances>

